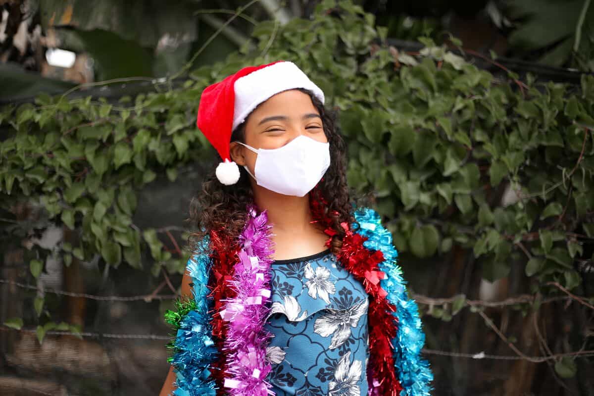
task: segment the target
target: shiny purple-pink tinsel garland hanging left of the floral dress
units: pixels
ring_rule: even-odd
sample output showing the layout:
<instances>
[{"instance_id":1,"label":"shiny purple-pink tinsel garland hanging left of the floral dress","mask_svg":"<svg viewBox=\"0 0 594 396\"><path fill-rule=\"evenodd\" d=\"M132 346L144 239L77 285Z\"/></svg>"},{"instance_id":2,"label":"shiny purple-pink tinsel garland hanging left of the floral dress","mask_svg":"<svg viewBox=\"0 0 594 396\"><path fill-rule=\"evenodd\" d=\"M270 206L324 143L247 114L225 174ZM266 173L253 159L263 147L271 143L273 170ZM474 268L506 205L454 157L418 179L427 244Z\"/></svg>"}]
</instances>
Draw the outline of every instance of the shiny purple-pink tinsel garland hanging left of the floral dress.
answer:
<instances>
[{"instance_id":1,"label":"shiny purple-pink tinsel garland hanging left of the floral dress","mask_svg":"<svg viewBox=\"0 0 594 396\"><path fill-rule=\"evenodd\" d=\"M257 213L254 205L247 208L248 220L239 236L241 250L239 262L230 288L237 292L233 299L226 299L225 309L220 311L228 322L224 348L230 378L225 378L225 388L230 395L266 396L274 395L266 376L271 364L266 360L266 347L272 334L264 330L264 323L270 308L270 263L272 241L266 211Z\"/></svg>"}]
</instances>

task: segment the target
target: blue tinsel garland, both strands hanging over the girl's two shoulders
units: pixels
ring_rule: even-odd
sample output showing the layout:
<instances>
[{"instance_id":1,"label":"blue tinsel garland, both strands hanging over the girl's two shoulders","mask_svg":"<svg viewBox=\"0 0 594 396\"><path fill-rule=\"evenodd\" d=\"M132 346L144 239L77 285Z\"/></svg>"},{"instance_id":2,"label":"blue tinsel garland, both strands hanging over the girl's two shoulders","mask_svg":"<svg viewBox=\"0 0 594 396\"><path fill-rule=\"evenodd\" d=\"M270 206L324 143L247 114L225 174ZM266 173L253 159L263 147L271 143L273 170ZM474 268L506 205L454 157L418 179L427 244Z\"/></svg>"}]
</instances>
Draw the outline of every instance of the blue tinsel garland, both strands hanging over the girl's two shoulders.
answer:
<instances>
[{"instance_id":1,"label":"blue tinsel garland, both strands hanging over the girl's two shoulders","mask_svg":"<svg viewBox=\"0 0 594 396\"><path fill-rule=\"evenodd\" d=\"M384 254L384 261L379 267L387 274L387 278L381 280L380 284L388 293L390 303L397 308L394 315L398 318L399 327L392 344L394 366L403 387L402 395L427 396L432 391L429 382L433 381L433 373L429 363L420 356L425 334L416 303L407 296L402 269L396 264L398 252L392 245L391 233L382 226L380 216L369 208L356 210L355 219L361 226L355 231L367 238L364 246ZM212 265L207 252L208 238L198 244L186 267L194 283L192 294L197 309L184 316L176 334L176 353L172 361L176 373L175 385L178 387L173 392L175 396L216 395L216 384L208 370L216 360L218 351L211 338L211 317L208 314L211 299L206 297Z\"/></svg>"}]
</instances>

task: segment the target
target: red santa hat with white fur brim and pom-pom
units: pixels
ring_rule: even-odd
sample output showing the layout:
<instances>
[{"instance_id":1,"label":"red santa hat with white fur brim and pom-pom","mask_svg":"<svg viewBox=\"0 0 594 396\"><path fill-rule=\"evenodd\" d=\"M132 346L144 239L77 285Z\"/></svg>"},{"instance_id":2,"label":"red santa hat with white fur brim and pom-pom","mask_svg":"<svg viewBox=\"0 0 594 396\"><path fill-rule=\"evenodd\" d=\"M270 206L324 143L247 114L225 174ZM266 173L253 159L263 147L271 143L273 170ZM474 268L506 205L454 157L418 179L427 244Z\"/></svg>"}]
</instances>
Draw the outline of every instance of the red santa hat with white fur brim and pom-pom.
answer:
<instances>
[{"instance_id":1,"label":"red santa hat with white fur brim and pom-pom","mask_svg":"<svg viewBox=\"0 0 594 396\"><path fill-rule=\"evenodd\" d=\"M196 125L223 160L216 169L221 183L232 185L239 180L239 167L231 161L229 154L232 131L258 104L293 88L307 88L324 103L323 91L289 61L247 66L204 89Z\"/></svg>"}]
</instances>

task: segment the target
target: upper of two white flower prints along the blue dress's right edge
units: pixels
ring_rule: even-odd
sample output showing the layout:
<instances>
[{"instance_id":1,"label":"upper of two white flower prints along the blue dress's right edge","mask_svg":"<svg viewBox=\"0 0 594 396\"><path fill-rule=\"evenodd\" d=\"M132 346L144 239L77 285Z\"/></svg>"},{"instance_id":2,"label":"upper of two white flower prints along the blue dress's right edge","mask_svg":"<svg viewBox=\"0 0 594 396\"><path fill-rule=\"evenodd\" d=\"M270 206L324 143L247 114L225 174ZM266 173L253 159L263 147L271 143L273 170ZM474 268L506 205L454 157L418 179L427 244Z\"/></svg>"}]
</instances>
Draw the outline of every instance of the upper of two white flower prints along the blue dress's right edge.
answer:
<instances>
[{"instance_id":1,"label":"upper of two white flower prints along the blue dress's right edge","mask_svg":"<svg viewBox=\"0 0 594 396\"><path fill-rule=\"evenodd\" d=\"M328 337L334 333L329 348L337 348L349 339L350 327L357 327L368 305L369 300L365 298L347 309L327 308L327 313L315 319L314 332L322 337Z\"/></svg>"}]
</instances>

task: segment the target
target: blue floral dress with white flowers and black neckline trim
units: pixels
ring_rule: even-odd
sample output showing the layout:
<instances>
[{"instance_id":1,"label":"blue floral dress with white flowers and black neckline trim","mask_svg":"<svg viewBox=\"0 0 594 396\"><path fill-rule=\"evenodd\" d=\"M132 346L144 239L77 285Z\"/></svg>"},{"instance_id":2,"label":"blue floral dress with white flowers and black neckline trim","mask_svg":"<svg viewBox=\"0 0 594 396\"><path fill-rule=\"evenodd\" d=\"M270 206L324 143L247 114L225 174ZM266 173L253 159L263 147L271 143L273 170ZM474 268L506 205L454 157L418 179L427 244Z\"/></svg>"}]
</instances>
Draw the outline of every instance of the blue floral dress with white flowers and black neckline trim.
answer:
<instances>
[{"instance_id":1,"label":"blue floral dress with white flowers and black neckline trim","mask_svg":"<svg viewBox=\"0 0 594 396\"><path fill-rule=\"evenodd\" d=\"M267 381L277 396L365 396L368 294L330 249L271 264L274 337Z\"/></svg>"}]
</instances>

